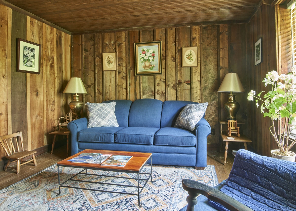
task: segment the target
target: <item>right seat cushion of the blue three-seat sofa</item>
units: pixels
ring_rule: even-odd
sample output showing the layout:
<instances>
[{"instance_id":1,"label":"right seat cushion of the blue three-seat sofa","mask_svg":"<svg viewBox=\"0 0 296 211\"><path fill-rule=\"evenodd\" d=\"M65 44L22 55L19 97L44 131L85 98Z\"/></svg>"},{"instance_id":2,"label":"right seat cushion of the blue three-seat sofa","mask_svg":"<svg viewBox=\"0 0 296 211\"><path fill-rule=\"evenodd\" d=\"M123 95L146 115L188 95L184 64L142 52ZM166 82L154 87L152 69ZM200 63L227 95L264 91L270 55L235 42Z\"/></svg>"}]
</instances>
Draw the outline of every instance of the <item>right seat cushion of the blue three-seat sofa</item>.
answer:
<instances>
[{"instance_id":1,"label":"right seat cushion of the blue three-seat sofa","mask_svg":"<svg viewBox=\"0 0 296 211\"><path fill-rule=\"evenodd\" d=\"M154 135L154 145L195 146L196 138L192 131L183 128L163 127Z\"/></svg>"}]
</instances>

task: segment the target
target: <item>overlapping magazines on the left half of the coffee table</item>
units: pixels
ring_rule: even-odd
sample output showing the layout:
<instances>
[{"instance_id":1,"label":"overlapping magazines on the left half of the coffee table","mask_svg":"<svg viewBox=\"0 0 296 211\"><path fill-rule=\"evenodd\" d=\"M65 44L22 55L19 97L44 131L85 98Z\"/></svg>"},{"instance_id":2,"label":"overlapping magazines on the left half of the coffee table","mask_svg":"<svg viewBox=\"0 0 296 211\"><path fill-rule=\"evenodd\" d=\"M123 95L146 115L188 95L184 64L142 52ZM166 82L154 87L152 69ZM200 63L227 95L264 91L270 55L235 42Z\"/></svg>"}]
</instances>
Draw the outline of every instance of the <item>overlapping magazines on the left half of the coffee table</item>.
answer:
<instances>
[{"instance_id":1,"label":"overlapping magazines on the left half of the coffee table","mask_svg":"<svg viewBox=\"0 0 296 211\"><path fill-rule=\"evenodd\" d=\"M72 163L97 163L101 164L108 158L110 158L112 154L102 154L102 153L81 153L75 158L72 158L68 161Z\"/></svg>"}]
</instances>

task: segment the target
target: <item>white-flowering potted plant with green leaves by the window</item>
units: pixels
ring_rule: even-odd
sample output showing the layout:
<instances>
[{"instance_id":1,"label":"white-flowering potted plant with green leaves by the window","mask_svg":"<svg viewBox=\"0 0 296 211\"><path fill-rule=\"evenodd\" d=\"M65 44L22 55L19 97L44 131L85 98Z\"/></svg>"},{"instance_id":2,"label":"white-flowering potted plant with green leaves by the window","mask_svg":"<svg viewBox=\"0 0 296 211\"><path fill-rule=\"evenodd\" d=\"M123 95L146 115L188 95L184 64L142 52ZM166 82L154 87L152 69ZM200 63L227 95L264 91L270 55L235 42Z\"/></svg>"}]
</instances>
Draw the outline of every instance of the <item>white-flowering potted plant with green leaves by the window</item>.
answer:
<instances>
[{"instance_id":1,"label":"white-flowering potted plant with green leaves by the window","mask_svg":"<svg viewBox=\"0 0 296 211\"><path fill-rule=\"evenodd\" d=\"M276 71L271 71L266 74L263 79L265 86L271 86L271 90L264 94L262 92L255 96L256 92L251 90L248 94L248 100L255 98L257 107L261 103L261 113L263 117L272 119L272 126L269 130L279 147L279 150L271 150L271 156L276 155L294 156L295 153L289 151L296 142L296 138L291 139L290 132L296 128L296 69L293 69L288 74L279 74ZM276 134L275 122L279 122L279 134ZM274 155L276 154L276 155Z\"/></svg>"}]
</instances>

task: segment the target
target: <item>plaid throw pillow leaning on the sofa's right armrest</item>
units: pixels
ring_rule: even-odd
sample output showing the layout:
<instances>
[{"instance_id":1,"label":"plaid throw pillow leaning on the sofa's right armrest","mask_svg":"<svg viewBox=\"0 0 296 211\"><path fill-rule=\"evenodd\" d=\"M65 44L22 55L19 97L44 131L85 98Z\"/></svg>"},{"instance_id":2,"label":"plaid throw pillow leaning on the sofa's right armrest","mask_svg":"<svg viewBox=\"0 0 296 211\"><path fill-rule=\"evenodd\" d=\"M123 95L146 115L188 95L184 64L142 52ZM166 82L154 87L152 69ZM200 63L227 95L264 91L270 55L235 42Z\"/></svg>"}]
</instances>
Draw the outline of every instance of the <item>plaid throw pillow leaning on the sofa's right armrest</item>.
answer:
<instances>
[{"instance_id":1,"label":"plaid throw pillow leaning on the sofa's right armrest","mask_svg":"<svg viewBox=\"0 0 296 211\"><path fill-rule=\"evenodd\" d=\"M195 125L200 121L206 109L207 103L187 104L179 113L175 127L194 130Z\"/></svg>"}]
</instances>

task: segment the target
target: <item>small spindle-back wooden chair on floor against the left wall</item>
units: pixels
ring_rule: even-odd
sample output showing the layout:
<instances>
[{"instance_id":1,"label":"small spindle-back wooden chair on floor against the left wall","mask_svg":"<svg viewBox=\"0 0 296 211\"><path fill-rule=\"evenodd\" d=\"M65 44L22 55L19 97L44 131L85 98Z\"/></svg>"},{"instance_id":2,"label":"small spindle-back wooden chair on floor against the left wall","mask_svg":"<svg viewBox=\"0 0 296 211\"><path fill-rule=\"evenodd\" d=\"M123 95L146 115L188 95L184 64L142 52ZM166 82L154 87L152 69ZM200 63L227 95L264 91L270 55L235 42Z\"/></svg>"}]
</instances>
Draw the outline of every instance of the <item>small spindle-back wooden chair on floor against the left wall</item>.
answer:
<instances>
[{"instance_id":1,"label":"small spindle-back wooden chair on floor against the left wall","mask_svg":"<svg viewBox=\"0 0 296 211\"><path fill-rule=\"evenodd\" d=\"M23 140L22 140L22 132L17 132L13 134L8 134L4 136L0 136L0 143L3 147L4 151L6 152L8 162L5 166L5 171L7 168L12 168L17 170L17 174L20 172L20 166L26 163L33 162L34 165L37 165L36 159L34 154L36 153L35 150L27 151L24 150ZM20 148L21 147L21 148ZM32 159L23 161L23 158L32 155ZM9 166L10 163L17 163L17 167Z\"/></svg>"}]
</instances>

